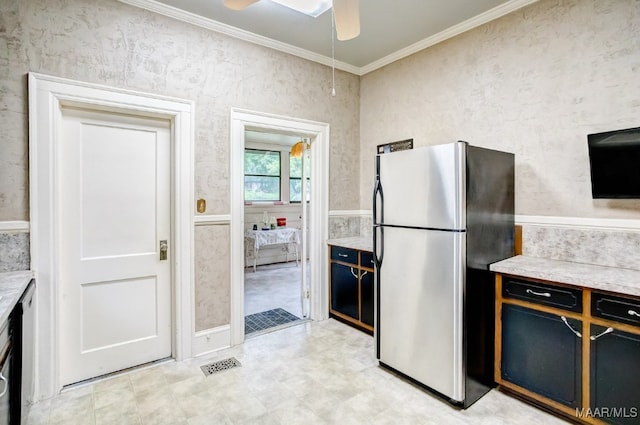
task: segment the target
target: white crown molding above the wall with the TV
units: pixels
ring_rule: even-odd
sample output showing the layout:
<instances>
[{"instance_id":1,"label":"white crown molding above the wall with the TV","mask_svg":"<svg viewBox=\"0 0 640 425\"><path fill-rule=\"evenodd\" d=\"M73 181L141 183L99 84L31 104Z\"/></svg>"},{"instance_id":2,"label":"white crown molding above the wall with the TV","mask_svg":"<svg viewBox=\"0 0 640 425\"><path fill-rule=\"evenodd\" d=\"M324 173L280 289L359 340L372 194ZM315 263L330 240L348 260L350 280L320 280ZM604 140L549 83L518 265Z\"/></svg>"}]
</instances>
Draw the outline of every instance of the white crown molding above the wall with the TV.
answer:
<instances>
[{"instance_id":1,"label":"white crown molding above the wall with the TV","mask_svg":"<svg viewBox=\"0 0 640 425\"><path fill-rule=\"evenodd\" d=\"M464 22L461 22L457 25L447 28L444 31L434 34L431 37L427 37L424 40L418 41L417 43L405 47L404 49L400 49L397 52L387 55L377 61L371 62L370 64L361 67L359 69L358 75L368 74L369 72L380 69L383 66L406 58L407 56L424 50L427 47L431 47L435 44L441 43L449 38L453 38L457 35L462 34L463 32L479 27L480 25L484 25L487 22L491 22L504 15L508 15L513 11L521 9L532 3L536 3L537 1L538 0L510 0L506 3L494 7L493 9L487 10L480 15L474 16L473 18L467 19Z\"/></svg>"}]
</instances>

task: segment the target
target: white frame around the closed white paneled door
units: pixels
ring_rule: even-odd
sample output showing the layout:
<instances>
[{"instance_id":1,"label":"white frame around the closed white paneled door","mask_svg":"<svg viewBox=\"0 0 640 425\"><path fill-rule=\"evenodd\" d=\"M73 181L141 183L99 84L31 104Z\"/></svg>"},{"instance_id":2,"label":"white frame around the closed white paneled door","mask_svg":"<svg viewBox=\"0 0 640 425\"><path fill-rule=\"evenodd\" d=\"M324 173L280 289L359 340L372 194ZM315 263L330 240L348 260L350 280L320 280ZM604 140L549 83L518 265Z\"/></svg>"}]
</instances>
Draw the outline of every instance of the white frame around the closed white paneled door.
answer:
<instances>
[{"instance_id":1,"label":"white frame around the closed white paneled door","mask_svg":"<svg viewBox=\"0 0 640 425\"><path fill-rule=\"evenodd\" d=\"M191 357L193 315L193 102L29 73L31 269L36 278L34 400L56 395L59 379L60 249L58 138L61 108L80 106L171 122L172 355Z\"/></svg>"}]
</instances>

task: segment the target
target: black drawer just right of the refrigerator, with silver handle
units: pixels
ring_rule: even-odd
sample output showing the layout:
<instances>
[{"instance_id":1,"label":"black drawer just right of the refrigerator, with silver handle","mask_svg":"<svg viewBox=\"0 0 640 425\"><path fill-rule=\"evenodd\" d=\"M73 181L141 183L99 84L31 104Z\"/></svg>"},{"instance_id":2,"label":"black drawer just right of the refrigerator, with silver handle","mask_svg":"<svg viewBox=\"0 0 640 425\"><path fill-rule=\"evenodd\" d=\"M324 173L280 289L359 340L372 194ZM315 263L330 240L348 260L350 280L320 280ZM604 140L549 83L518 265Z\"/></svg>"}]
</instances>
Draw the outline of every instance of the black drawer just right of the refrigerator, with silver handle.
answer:
<instances>
[{"instance_id":1,"label":"black drawer just right of the refrigerator, with silver handle","mask_svg":"<svg viewBox=\"0 0 640 425\"><path fill-rule=\"evenodd\" d=\"M564 288L527 280L506 278L502 285L502 296L563 310L582 312L582 290L577 288Z\"/></svg>"}]
</instances>

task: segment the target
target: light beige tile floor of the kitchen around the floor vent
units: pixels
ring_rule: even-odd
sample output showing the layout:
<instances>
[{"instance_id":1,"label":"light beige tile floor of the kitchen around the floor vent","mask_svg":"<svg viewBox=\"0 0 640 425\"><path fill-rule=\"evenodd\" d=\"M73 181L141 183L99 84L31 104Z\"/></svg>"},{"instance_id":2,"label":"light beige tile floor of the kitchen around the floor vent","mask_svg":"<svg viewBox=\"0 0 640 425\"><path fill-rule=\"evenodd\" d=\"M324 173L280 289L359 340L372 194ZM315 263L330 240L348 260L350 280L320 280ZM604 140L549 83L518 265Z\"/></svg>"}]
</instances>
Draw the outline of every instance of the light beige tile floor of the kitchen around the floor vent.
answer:
<instances>
[{"instance_id":1,"label":"light beige tile floor of the kitchen around the floor vent","mask_svg":"<svg viewBox=\"0 0 640 425\"><path fill-rule=\"evenodd\" d=\"M200 366L241 367L205 377ZM373 338L333 319L63 392L30 425L564 424L493 390L459 411L377 366Z\"/></svg>"}]
</instances>

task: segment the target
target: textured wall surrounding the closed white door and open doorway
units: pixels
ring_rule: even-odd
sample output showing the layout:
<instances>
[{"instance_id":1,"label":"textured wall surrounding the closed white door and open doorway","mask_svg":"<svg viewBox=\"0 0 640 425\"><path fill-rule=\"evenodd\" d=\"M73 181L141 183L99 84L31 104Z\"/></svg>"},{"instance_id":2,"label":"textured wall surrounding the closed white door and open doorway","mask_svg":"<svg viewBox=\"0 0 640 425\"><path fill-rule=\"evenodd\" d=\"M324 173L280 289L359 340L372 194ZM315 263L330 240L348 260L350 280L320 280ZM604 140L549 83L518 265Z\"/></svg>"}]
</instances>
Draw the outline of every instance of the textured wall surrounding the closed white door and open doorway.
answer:
<instances>
[{"instance_id":1,"label":"textured wall surrounding the closed white door and open doorway","mask_svg":"<svg viewBox=\"0 0 640 425\"><path fill-rule=\"evenodd\" d=\"M229 214L229 111L331 125L331 209L357 209L359 79L115 0L0 1L0 221L28 220L29 71L195 102L195 198ZM339 182L339 184L337 184ZM197 229L196 328L228 323L229 238ZM205 240L209 238L209 240ZM202 248L206 246L207 252Z\"/></svg>"}]
</instances>

